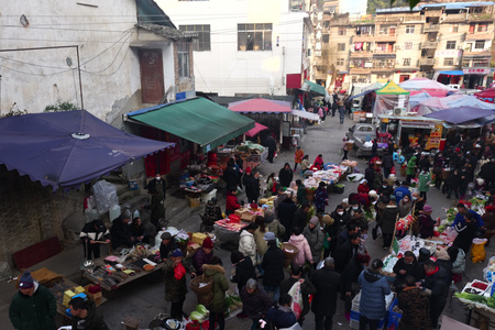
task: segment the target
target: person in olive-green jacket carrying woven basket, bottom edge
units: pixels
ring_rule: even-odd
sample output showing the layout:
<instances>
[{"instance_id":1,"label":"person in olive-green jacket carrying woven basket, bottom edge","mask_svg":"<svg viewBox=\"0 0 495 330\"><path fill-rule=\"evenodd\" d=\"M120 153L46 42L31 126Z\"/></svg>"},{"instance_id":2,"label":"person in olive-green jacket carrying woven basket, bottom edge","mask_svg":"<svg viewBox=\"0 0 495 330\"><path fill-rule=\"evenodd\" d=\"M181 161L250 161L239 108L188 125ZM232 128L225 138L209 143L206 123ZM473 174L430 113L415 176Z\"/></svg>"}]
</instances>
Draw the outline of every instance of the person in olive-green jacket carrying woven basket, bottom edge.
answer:
<instances>
[{"instance_id":1,"label":"person in olive-green jacket carrying woven basket, bottom edge","mask_svg":"<svg viewBox=\"0 0 495 330\"><path fill-rule=\"evenodd\" d=\"M205 275L209 276L213 280L213 300L208 307L210 310L210 329L215 330L215 322L218 322L219 329L226 329L226 315L227 304L226 304L226 292L229 289L229 283L226 278L226 270L222 267L222 261L218 256L213 256L211 265L204 264L202 270Z\"/></svg>"}]
</instances>

